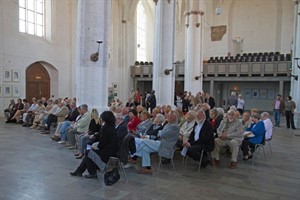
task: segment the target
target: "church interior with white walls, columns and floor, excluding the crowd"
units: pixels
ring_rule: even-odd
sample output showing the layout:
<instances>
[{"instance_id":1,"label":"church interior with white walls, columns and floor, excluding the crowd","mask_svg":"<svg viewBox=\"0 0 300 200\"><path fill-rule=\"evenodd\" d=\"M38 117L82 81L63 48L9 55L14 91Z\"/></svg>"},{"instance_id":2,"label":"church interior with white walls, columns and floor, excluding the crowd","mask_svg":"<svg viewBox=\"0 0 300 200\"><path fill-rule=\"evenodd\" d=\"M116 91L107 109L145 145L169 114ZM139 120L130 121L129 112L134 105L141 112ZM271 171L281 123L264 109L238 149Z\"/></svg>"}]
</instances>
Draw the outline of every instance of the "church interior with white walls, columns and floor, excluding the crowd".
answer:
<instances>
[{"instance_id":1,"label":"church interior with white walls, columns and floor, excluding the crowd","mask_svg":"<svg viewBox=\"0 0 300 200\"><path fill-rule=\"evenodd\" d=\"M299 0L0 0L0 199L297 199L299 59ZM244 110L271 116L276 96L291 96L297 130L282 116L272 149L234 171L197 172L175 152L174 172L129 168L107 187L70 177L74 151L6 124L2 112L11 99L46 97L102 113L110 95L125 105L136 90L172 108L186 92L209 93L225 110L234 92Z\"/></svg>"}]
</instances>

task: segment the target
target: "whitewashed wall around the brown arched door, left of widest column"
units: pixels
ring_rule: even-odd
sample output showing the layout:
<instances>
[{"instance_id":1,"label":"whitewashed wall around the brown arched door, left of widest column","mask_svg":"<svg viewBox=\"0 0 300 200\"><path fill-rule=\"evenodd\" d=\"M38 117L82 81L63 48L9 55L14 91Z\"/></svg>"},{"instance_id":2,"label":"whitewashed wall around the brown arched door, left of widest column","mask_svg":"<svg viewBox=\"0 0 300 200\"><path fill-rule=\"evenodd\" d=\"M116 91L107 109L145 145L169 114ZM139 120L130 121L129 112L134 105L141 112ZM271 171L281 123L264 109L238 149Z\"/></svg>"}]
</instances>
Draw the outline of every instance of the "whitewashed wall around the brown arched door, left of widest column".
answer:
<instances>
[{"instance_id":1,"label":"whitewashed wall around the brown arched door, left of widest column","mask_svg":"<svg viewBox=\"0 0 300 200\"><path fill-rule=\"evenodd\" d=\"M75 67L76 1L52 1L51 37L49 40L19 33L18 1L0 1L0 85L20 85L20 98L26 96L26 68L43 61L51 77L51 95L72 96ZM4 82L3 70L18 70L20 82ZM57 76L58 77L53 77ZM0 110L12 97L0 97Z\"/></svg>"}]
</instances>

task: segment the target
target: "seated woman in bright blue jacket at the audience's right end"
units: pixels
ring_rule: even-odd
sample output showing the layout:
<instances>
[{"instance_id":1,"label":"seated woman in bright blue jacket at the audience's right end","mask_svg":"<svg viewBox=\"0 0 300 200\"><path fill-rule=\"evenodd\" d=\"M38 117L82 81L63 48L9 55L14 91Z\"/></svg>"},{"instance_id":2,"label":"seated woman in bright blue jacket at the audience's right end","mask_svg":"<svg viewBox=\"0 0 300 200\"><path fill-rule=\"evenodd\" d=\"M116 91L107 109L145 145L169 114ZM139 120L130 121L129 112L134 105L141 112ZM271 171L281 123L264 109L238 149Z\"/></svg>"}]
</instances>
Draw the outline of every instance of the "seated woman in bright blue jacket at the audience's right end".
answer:
<instances>
[{"instance_id":1,"label":"seated woman in bright blue jacket at the audience's right end","mask_svg":"<svg viewBox=\"0 0 300 200\"><path fill-rule=\"evenodd\" d=\"M260 115L254 113L251 115L252 124L246 129L244 134L245 139L242 142L241 149L243 151L243 160L249 160L252 158L252 153L255 150L256 144L261 144L263 142L264 134L266 132L265 125L263 121L259 120Z\"/></svg>"}]
</instances>

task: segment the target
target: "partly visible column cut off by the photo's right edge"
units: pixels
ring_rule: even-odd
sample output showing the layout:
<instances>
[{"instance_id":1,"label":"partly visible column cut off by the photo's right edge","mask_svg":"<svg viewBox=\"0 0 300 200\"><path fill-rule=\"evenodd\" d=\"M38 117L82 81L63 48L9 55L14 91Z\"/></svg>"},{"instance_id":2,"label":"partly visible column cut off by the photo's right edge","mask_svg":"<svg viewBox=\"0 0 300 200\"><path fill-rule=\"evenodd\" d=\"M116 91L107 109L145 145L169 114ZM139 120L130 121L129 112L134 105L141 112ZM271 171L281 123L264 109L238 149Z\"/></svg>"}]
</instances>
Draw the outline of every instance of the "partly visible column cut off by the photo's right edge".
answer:
<instances>
[{"instance_id":1,"label":"partly visible column cut off by the photo's right edge","mask_svg":"<svg viewBox=\"0 0 300 200\"><path fill-rule=\"evenodd\" d=\"M298 75L298 81L294 78L291 78L291 96L293 101L296 102L296 110L294 113L295 126L297 129L300 129L300 69L298 65L300 65L300 59L294 60L294 58L300 58L300 0L296 0L295 2L295 12L294 12L294 37L293 37L293 75Z\"/></svg>"}]
</instances>

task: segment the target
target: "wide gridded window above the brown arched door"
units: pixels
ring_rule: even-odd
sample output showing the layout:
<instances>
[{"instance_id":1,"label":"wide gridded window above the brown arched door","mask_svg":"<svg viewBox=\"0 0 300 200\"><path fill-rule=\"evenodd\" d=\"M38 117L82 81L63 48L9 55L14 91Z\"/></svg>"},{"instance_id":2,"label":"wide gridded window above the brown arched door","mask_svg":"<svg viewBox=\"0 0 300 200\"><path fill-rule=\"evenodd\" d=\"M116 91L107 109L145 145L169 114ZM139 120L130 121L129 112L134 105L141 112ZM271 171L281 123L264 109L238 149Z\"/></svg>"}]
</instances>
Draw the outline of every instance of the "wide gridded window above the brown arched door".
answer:
<instances>
[{"instance_id":1,"label":"wide gridded window above the brown arched door","mask_svg":"<svg viewBox=\"0 0 300 200\"><path fill-rule=\"evenodd\" d=\"M45 1L19 0L19 31L44 37Z\"/></svg>"}]
</instances>

